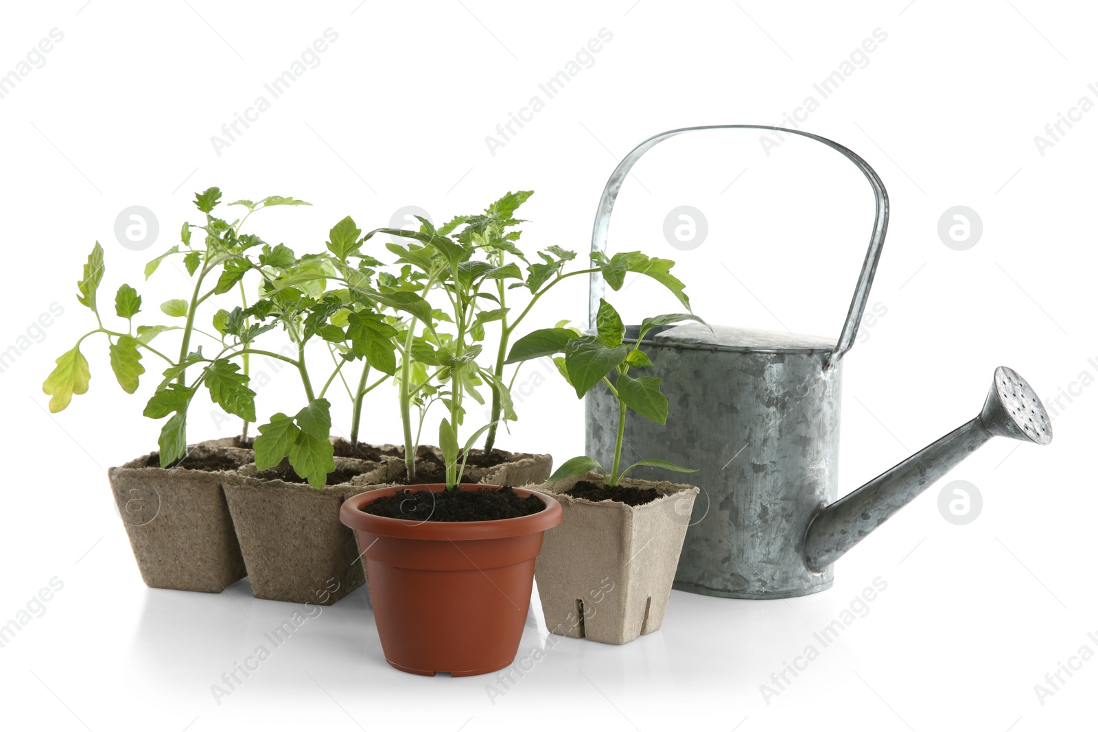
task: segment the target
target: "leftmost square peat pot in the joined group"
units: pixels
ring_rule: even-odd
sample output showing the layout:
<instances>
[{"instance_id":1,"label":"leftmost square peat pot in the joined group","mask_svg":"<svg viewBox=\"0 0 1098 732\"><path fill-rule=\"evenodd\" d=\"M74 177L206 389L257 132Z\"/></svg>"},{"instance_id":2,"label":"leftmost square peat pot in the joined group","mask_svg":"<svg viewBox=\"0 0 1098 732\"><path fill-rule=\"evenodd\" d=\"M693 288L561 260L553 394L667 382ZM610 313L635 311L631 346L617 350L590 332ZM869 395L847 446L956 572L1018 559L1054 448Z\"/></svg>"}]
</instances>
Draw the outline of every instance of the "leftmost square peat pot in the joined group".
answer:
<instances>
[{"instance_id":1,"label":"leftmost square peat pot in the joined group","mask_svg":"<svg viewBox=\"0 0 1098 732\"><path fill-rule=\"evenodd\" d=\"M107 471L142 579L149 587L220 593L245 576L223 485L255 460L236 438L192 444L171 468L160 454Z\"/></svg>"}]
</instances>

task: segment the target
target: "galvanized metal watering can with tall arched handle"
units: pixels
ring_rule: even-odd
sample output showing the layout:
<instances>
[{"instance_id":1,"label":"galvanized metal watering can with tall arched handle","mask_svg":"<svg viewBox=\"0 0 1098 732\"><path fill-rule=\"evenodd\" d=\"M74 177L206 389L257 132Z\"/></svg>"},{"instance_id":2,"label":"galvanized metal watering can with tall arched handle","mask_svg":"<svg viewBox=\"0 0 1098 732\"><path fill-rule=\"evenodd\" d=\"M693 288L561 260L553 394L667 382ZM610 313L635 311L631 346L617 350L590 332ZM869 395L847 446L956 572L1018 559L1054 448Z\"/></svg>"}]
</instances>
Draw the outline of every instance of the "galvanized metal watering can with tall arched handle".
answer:
<instances>
[{"instance_id":1,"label":"galvanized metal watering can with tall arched handle","mask_svg":"<svg viewBox=\"0 0 1098 732\"><path fill-rule=\"evenodd\" d=\"M842 145L797 129L672 129L638 145L610 176L598 202L591 248L606 250L621 182L646 151L685 132L733 128L815 139L841 153L869 179L876 218L847 322L837 344L721 326L710 333L697 324L659 329L646 338L645 349L672 405L668 424L632 419L625 443L631 454L699 469L690 477L703 494L694 503L676 589L754 599L797 597L827 589L832 562L991 437L1047 444L1052 428L1029 384L999 367L976 417L836 500L842 357L858 334L888 226L888 194L873 168ZM592 274L592 324L604 292L602 275ZM627 340L636 335L636 326L627 329ZM600 460L613 455L616 421L609 392L592 390L586 402L587 454ZM654 469L643 472L657 475Z\"/></svg>"}]
</instances>

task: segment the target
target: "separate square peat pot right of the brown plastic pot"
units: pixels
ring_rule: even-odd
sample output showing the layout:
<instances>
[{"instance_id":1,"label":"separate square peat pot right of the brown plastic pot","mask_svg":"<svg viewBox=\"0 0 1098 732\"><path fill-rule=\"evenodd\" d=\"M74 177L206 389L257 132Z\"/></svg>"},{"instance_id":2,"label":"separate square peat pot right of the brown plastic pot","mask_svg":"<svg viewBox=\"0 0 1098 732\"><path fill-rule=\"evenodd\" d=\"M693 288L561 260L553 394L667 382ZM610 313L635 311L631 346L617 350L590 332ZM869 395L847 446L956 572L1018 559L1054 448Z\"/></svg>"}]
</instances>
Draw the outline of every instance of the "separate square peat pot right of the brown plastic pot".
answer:
<instances>
[{"instance_id":1,"label":"separate square peat pot right of the brown plastic pot","mask_svg":"<svg viewBox=\"0 0 1098 732\"><path fill-rule=\"evenodd\" d=\"M546 626L558 635L628 643L663 624L699 491L625 478L623 487L648 489L652 492L648 497L654 497L630 506L568 495L580 481L605 488L598 473L538 486L556 497L563 511L560 527L546 537L537 561Z\"/></svg>"}]
</instances>

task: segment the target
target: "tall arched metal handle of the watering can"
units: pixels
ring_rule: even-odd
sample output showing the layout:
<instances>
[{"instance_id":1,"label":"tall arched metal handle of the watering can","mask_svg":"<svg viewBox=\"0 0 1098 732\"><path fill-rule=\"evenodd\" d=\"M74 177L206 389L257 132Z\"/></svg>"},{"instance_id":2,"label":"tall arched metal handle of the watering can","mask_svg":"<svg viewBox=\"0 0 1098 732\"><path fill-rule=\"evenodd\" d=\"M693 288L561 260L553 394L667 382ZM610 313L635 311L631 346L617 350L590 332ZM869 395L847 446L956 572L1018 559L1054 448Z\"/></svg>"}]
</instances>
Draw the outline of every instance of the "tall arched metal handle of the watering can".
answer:
<instances>
[{"instance_id":1,"label":"tall arched metal handle of the watering can","mask_svg":"<svg viewBox=\"0 0 1098 732\"><path fill-rule=\"evenodd\" d=\"M870 167L870 164L852 150L847 149L836 142L827 139L826 137L820 137L819 135L802 132L799 129L787 129L785 127L771 127L769 125L754 124L720 124L699 127L682 127L680 129L671 129L669 132L662 132L653 137L649 137L643 143L635 147L629 155L621 159L618 167L614 169L614 173L609 177L609 180L606 181L606 188L603 189L603 195L598 200L598 212L595 214L594 230L591 233L591 251L606 251L606 235L610 226L610 212L614 210L614 201L617 200L618 191L621 190L621 183L625 181L625 177L629 174L629 170L631 170L632 166L640 159L640 156L656 147L657 144L662 143L670 137L681 135L684 132L694 132L697 129L771 129L789 135L808 137L819 143L824 143L828 147L841 153L851 162L858 166L858 169L861 170L862 173L869 179L870 185L873 188L873 195L876 199L876 216L873 221L873 234L870 237L870 249L865 252L865 261L862 263L862 273L858 277L858 286L854 290L854 297L850 302L850 311L847 313L847 322L843 324L842 333L839 335L839 342L836 344L834 350L832 350L828 356L827 368L831 368L847 351L850 350L850 347L854 345L854 336L858 335L858 326L862 322L862 313L865 312L865 301L870 296L870 286L873 284L873 275L877 271L877 261L881 259L881 249L885 243L885 232L888 229L888 192L885 190L884 183L881 182L881 177L877 176L876 171ZM590 323L592 325L595 323L595 315L598 313L598 300L605 292L606 288L605 282L603 281L602 272L593 272L591 274L590 289Z\"/></svg>"}]
</instances>

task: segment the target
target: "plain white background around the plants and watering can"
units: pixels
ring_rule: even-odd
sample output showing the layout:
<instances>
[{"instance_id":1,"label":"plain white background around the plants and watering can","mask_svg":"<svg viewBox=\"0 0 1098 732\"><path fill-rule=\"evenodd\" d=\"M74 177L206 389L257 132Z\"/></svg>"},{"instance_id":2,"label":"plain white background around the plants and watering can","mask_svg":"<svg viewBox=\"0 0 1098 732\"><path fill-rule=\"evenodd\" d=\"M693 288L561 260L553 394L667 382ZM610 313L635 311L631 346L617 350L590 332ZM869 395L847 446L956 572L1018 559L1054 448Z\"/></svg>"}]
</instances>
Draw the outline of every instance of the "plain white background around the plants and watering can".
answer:
<instances>
[{"instance_id":1,"label":"plain white background around the plants and watering can","mask_svg":"<svg viewBox=\"0 0 1098 732\"><path fill-rule=\"evenodd\" d=\"M52 29L64 33L44 65L0 99L0 350L20 352L0 373L0 622L52 577L64 583L44 615L0 649L5 728L659 730L683 718L743 732L1094 724L1098 661L1062 676L1066 684L1044 703L1034 691L1082 645L1098 652L1087 638L1098 634L1089 460L1098 112L1062 124L1065 134L1043 155L1034 142L1080 97L1098 102L1087 88L1098 86L1098 19L1085 3L70 0L3 13L0 74ZM320 65L219 155L211 136L329 27L338 40ZM612 40L581 57L581 70L547 100L538 85L602 29ZM855 54L853 72L824 99L813 85L876 29L886 40ZM545 108L493 154L485 136L534 95ZM564 640L494 703L489 677L422 678L386 666L363 590L311 620L219 705L211 685L294 607L253 599L246 582L223 595L143 586L105 469L154 448L159 425L141 409L155 380L146 375L126 396L105 345L89 339L89 393L55 417L45 412L41 383L53 359L93 327L74 295L92 244L105 249L101 301L130 282L153 318L160 301L187 296L187 282L168 266L145 282L142 268L194 217L193 192L209 185L225 200L312 202L254 219L251 230L299 252L321 250L347 214L367 229L417 205L438 222L533 189L524 243L582 251L602 187L632 146L680 126L775 124L808 95L819 106L804 128L859 151L893 205L870 296L871 309L885 314L863 324L845 361L840 491L972 417L1000 363L1050 407L1060 397L1053 444L993 441L843 558L824 594L747 601L675 592L659 632L620 647ZM872 199L852 166L817 147L788 140L768 155L758 135L724 132L664 143L623 189L610 249L677 260L695 309L710 322L837 336ZM683 204L709 226L691 251L662 234L666 213ZM131 205L159 221L159 238L144 251L114 237L115 216ZM955 205L983 222L966 250L938 235L939 217ZM583 325L580 279L530 327ZM645 282L616 302L630 320L674 309ZM27 334L52 303L64 314ZM558 462L581 453L582 404L559 380L530 391L501 447ZM301 401L283 372L259 409L294 410ZM394 407L379 390L366 439L395 441ZM195 407L192 440L235 429L211 409ZM337 408L337 429L346 412ZM952 480L983 495L971 523L939 513L938 494ZM869 613L766 698L761 685L875 577L887 589ZM535 613L519 653L544 643Z\"/></svg>"}]
</instances>

